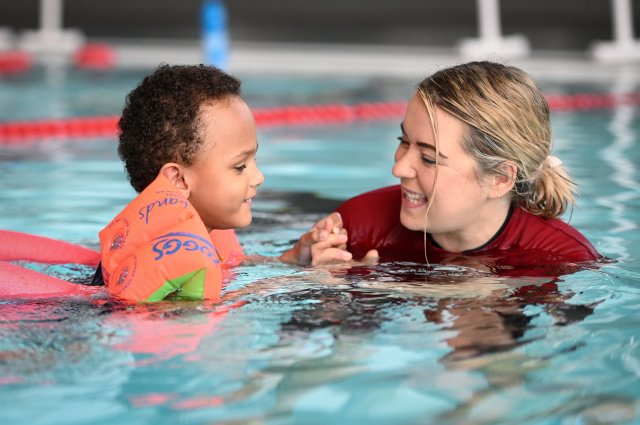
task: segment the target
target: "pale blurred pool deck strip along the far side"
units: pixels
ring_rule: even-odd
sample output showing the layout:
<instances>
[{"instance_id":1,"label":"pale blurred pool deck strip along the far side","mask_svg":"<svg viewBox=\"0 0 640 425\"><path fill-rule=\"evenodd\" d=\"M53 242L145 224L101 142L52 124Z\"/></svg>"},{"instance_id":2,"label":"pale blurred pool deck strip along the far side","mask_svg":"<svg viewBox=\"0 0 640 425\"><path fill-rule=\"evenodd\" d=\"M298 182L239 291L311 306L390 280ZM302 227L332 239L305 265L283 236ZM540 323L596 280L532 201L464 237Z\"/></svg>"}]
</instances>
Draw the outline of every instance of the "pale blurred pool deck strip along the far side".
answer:
<instances>
[{"instance_id":1,"label":"pale blurred pool deck strip along the far side","mask_svg":"<svg viewBox=\"0 0 640 425\"><path fill-rule=\"evenodd\" d=\"M105 40L123 68L160 63L201 63L197 41ZM640 61L601 63L588 52L533 51L526 58L479 57L518 66L535 79L575 82L640 83ZM390 45L336 45L233 42L229 71L255 74L364 75L420 79L437 69L472 60L455 49Z\"/></svg>"}]
</instances>

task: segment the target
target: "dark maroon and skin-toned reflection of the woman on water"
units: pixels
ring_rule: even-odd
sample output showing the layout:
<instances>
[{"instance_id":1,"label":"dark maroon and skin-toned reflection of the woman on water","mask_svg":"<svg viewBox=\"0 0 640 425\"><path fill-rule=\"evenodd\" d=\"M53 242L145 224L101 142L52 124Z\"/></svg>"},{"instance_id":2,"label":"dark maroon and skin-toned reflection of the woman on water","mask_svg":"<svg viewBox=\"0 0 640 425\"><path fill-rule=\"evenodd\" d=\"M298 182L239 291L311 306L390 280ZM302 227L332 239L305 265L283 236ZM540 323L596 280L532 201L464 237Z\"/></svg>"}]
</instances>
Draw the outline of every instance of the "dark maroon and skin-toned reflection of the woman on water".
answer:
<instances>
[{"instance_id":1,"label":"dark maroon and skin-toned reflection of the woman on water","mask_svg":"<svg viewBox=\"0 0 640 425\"><path fill-rule=\"evenodd\" d=\"M460 266L392 263L331 270L335 280L348 282L348 290L309 289L289 294L292 300L314 300L296 310L283 324L290 329L333 327L335 333L373 330L385 312L398 305L424 307L427 321L453 330L448 339L447 361L509 350L524 344L526 331L536 316L546 313L555 325L583 320L593 305L568 304L573 294L558 289L558 277L507 278ZM530 306L541 309L527 311Z\"/></svg>"}]
</instances>

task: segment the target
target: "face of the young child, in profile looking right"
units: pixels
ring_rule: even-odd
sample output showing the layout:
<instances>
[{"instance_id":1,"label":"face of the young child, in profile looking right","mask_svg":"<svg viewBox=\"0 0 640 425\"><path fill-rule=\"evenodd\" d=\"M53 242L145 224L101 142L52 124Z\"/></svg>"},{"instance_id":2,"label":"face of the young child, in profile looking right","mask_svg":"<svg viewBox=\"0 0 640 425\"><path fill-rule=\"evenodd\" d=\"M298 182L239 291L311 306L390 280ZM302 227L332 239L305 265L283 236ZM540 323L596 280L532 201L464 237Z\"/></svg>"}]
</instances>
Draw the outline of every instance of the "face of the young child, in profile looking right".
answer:
<instances>
[{"instance_id":1,"label":"face of the young child, in profile looking right","mask_svg":"<svg viewBox=\"0 0 640 425\"><path fill-rule=\"evenodd\" d=\"M189 201L209 231L251 223L251 201L264 176L255 161L258 142L251 110L234 96L200 110L202 150L185 169Z\"/></svg>"}]
</instances>

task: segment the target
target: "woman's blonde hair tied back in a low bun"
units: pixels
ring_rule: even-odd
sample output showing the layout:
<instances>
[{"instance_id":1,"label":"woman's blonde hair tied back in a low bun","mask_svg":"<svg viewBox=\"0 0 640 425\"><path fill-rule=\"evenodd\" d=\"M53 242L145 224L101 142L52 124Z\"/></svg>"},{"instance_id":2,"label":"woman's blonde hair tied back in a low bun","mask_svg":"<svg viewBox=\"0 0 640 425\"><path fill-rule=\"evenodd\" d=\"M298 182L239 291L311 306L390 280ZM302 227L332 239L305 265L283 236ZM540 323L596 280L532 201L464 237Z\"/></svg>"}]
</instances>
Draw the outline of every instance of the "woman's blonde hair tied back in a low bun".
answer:
<instances>
[{"instance_id":1,"label":"woman's blonde hair tied back in a low bun","mask_svg":"<svg viewBox=\"0 0 640 425\"><path fill-rule=\"evenodd\" d=\"M479 176L506 175L517 167L512 202L534 215L553 218L575 203L576 185L551 153L549 105L522 70L493 62L470 62L436 72L418 86L429 115L439 107L468 125L463 149ZM434 126L437 137L437 128Z\"/></svg>"}]
</instances>

